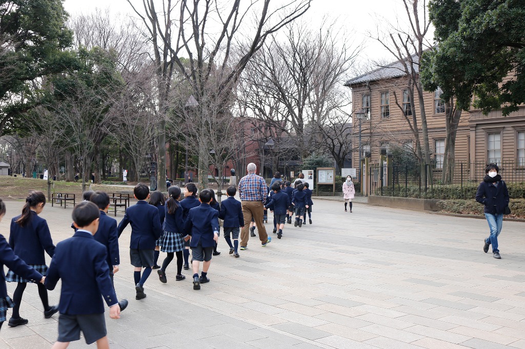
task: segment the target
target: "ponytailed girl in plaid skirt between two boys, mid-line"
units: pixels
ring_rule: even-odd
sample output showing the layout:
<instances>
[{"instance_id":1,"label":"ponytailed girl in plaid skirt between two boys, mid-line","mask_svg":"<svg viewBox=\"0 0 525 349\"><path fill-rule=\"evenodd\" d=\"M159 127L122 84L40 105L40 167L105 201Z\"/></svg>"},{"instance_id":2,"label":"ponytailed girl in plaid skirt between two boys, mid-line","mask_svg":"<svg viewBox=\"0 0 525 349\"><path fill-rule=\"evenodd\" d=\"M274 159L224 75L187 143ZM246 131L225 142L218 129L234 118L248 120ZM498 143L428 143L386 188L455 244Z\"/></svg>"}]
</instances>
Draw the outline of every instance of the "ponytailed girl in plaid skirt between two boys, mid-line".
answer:
<instances>
[{"instance_id":1,"label":"ponytailed girl in plaid skirt between two boys, mid-line","mask_svg":"<svg viewBox=\"0 0 525 349\"><path fill-rule=\"evenodd\" d=\"M167 191L169 197L164 205L165 219L162 225L162 244L161 251L167 253L167 257L162 263L162 267L157 270L161 282L166 283L166 268L173 260L173 254L177 256L177 275L175 280L184 280L186 277L182 275L182 263L184 250L183 228L184 221L182 218L182 207L178 203L181 197L181 188L178 186L171 186Z\"/></svg>"}]
</instances>

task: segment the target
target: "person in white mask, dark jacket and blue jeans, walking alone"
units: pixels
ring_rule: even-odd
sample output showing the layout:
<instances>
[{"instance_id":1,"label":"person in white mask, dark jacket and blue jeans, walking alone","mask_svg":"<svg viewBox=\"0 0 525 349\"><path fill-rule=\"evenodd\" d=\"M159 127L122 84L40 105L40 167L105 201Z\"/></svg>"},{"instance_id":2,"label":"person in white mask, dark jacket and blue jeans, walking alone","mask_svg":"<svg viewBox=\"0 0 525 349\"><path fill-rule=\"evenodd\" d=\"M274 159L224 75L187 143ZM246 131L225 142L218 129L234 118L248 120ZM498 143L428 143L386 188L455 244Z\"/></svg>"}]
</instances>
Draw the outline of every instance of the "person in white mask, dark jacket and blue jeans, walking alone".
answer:
<instances>
[{"instance_id":1,"label":"person in white mask, dark jacket and blue jeans, walking alone","mask_svg":"<svg viewBox=\"0 0 525 349\"><path fill-rule=\"evenodd\" d=\"M509 191L507 184L501 180L499 167L490 163L485 169L486 176L479 184L476 192L476 201L485 205L485 218L490 228L490 236L485 239L483 252L487 253L492 245L492 254L496 259L501 259L498 249L498 236L503 225L503 213L509 205Z\"/></svg>"}]
</instances>

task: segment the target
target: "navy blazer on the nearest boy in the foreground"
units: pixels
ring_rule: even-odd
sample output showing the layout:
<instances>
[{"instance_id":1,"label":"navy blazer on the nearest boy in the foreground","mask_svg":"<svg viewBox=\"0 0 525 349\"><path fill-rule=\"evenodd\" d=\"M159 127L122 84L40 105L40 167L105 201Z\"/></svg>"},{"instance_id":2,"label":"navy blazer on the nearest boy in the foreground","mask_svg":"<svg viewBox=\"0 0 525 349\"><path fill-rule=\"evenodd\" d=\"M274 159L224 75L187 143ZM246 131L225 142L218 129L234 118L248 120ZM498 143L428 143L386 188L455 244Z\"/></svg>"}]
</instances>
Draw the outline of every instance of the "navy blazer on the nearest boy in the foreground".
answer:
<instances>
[{"instance_id":1,"label":"navy blazer on the nearest boy in the foreground","mask_svg":"<svg viewBox=\"0 0 525 349\"><path fill-rule=\"evenodd\" d=\"M60 314L103 313L102 299L109 307L118 304L106 259L106 246L87 231L78 230L57 244L45 284L48 290L53 290L62 279L58 303Z\"/></svg>"}]
</instances>

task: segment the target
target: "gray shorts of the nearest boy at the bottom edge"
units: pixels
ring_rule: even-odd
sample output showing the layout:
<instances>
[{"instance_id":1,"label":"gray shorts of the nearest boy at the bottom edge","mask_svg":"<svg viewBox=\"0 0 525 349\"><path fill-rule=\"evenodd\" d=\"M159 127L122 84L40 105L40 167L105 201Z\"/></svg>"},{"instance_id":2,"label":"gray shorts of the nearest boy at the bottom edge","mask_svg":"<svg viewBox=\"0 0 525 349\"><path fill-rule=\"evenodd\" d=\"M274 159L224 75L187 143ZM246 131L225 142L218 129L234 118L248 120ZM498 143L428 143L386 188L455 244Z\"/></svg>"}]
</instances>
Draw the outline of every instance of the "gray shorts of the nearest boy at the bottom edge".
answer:
<instances>
[{"instance_id":1,"label":"gray shorts of the nearest boy at the bottom edge","mask_svg":"<svg viewBox=\"0 0 525 349\"><path fill-rule=\"evenodd\" d=\"M72 342L80 339L80 331L87 344L95 343L108 334L104 313L67 315L58 317L58 342Z\"/></svg>"}]
</instances>

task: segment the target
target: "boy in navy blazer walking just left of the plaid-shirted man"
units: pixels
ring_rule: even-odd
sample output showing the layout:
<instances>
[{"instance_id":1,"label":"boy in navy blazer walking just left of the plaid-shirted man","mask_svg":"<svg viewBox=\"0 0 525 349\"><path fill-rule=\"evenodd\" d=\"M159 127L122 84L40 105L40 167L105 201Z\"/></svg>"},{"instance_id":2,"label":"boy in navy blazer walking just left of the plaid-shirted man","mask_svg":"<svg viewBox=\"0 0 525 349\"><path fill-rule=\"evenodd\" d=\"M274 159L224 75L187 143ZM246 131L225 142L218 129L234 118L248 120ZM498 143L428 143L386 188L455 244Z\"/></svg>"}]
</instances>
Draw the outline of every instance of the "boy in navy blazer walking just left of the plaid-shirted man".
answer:
<instances>
[{"instance_id":1,"label":"boy in navy blazer walking just left of the plaid-shirted man","mask_svg":"<svg viewBox=\"0 0 525 349\"><path fill-rule=\"evenodd\" d=\"M219 218L224 220L224 239L230 247L229 254L233 254L236 258L239 258L237 249L239 247L240 227L244 227L244 215L243 207L240 204L240 201L235 199L236 192L237 189L233 186L230 186L228 189L226 189L228 198L220 202ZM230 238L230 233L233 235L233 245L232 239Z\"/></svg>"}]
</instances>

